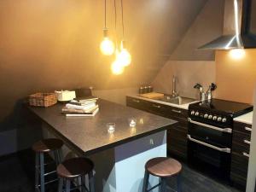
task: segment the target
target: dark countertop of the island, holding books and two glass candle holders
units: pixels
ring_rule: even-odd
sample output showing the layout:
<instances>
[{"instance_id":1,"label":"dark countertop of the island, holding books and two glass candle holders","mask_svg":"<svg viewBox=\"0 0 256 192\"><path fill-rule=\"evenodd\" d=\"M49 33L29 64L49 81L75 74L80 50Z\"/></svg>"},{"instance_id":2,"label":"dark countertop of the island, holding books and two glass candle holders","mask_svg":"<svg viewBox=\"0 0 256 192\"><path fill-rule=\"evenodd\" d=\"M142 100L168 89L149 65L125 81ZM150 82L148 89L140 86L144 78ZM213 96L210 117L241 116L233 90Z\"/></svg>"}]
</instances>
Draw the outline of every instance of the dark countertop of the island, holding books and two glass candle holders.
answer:
<instances>
[{"instance_id":1,"label":"dark countertop of the island, holding books and two glass candle holders","mask_svg":"<svg viewBox=\"0 0 256 192\"><path fill-rule=\"evenodd\" d=\"M64 105L60 103L49 108L28 108L49 125L50 131L53 131L56 137L61 137L84 155L164 131L176 123L172 119L114 102L99 99L98 103L100 111L94 117L66 117L61 114ZM128 119L133 117L137 119L136 130L128 123ZM139 119L143 119L143 124ZM115 123L113 134L108 133L107 123Z\"/></svg>"}]
</instances>

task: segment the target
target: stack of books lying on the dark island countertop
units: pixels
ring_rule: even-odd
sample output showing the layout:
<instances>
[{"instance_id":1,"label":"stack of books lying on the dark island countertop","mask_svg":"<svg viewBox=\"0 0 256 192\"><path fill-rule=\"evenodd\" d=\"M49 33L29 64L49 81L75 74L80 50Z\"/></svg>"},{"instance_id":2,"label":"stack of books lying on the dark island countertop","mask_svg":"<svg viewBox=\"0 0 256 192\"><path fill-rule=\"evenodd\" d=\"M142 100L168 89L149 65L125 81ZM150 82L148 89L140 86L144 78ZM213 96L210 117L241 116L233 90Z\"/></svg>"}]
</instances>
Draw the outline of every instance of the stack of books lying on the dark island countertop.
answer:
<instances>
[{"instance_id":1,"label":"stack of books lying on the dark island countertop","mask_svg":"<svg viewBox=\"0 0 256 192\"><path fill-rule=\"evenodd\" d=\"M62 113L67 117L91 117L99 111L97 97L90 96L75 98L62 108Z\"/></svg>"}]
</instances>

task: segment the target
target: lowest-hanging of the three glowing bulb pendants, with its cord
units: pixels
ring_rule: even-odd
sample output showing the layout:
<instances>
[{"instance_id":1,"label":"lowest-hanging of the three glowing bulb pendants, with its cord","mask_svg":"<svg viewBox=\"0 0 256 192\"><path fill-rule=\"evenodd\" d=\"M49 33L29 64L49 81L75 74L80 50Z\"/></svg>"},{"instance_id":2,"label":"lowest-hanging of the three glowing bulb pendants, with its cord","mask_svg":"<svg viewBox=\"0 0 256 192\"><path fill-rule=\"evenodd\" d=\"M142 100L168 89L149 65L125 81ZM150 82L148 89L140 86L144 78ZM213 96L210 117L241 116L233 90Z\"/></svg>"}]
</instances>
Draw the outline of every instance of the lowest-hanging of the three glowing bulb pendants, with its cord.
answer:
<instances>
[{"instance_id":1,"label":"lowest-hanging of the three glowing bulb pendants, with its cord","mask_svg":"<svg viewBox=\"0 0 256 192\"><path fill-rule=\"evenodd\" d=\"M119 60L119 46L117 44L117 29L116 29L116 20L117 20L117 14L116 14L116 0L113 1L114 3L114 29L115 29L115 61L113 61L111 65L112 73L115 75L122 74L124 72L124 66Z\"/></svg>"}]
</instances>

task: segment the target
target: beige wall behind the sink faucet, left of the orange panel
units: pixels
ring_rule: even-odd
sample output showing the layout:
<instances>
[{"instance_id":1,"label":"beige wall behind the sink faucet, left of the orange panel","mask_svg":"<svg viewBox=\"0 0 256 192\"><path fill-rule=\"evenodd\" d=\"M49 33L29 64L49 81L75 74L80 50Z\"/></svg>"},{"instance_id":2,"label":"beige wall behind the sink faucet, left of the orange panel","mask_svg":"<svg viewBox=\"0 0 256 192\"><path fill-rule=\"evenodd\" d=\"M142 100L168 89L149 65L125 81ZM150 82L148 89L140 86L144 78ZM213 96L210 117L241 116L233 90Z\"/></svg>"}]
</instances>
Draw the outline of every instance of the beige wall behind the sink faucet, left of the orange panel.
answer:
<instances>
[{"instance_id":1,"label":"beige wall behind the sink faucet, left of the orange panel","mask_svg":"<svg viewBox=\"0 0 256 192\"><path fill-rule=\"evenodd\" d=\"M202 84L205 90L209 84L215 83L215 62L168 61L152 82L154 90L171 93L172 75L177 76L177 91L180 96L197 98L198 91L193 88L196 83Z\"/></svg>"}]
</instances>

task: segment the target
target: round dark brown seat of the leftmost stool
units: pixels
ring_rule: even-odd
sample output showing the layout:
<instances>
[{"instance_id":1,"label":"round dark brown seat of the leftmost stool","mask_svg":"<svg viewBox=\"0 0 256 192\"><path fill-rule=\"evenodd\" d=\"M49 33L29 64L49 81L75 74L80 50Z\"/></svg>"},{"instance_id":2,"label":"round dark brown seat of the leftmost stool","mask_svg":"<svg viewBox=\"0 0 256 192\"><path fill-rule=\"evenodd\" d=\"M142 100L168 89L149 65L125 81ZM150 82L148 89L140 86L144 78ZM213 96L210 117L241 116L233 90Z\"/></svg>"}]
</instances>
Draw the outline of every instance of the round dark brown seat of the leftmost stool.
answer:
<instances>
[{"instance_id":1,"label":"round dark brown seat of the leftmost stool","mask_svg":"<svg viewBox=\"0 0 256 192\"><path fill-rule=\"evenodd\" d=\"M63 142L60 139L49 138L34 143L32 149L37 153L46 153L60 149L62 145Z\"/></svg>"}]
</instances>

